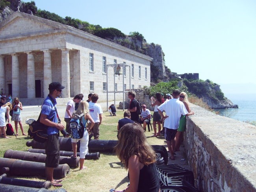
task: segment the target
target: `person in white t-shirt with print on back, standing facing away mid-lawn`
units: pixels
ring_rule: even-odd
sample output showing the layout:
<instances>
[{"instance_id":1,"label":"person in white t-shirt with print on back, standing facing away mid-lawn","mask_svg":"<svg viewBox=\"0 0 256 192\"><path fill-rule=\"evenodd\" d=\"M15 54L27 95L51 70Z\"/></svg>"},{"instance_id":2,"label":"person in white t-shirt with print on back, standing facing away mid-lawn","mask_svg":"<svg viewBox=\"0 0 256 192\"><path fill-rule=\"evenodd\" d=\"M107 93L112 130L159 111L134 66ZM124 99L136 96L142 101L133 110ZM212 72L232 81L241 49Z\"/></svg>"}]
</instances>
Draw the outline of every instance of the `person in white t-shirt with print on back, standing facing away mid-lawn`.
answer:
<instances>
[{"instance_id":1,"label":"person in white t-shirt with print on back, standing facing away mid-lawn","mask_svg":"<svg viewBox=\"0 0 256 192\"><path fill-rule=\"evenodd\" d=\"M99 139L99 135L100 135L99 126L102 121L102 113L103 113L101 106L97 103L98 98L99 98L98 94L92 94L91 102L89 102L89 113L95 122L92 130L94 139ZM90 123L89 123L89 126L90 126Z\"/></svg>"}]
</instances>

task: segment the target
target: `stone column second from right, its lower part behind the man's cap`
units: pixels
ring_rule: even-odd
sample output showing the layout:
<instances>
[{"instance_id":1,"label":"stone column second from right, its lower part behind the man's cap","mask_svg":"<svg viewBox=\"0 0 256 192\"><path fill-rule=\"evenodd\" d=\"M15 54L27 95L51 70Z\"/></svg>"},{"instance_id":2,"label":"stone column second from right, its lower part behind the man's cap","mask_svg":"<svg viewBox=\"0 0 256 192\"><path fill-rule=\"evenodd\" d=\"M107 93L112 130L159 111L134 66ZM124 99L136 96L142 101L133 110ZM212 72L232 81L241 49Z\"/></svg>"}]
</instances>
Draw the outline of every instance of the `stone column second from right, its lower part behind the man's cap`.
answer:
<instances>
[{"instance_id":1,"label":"stone column second from right, its lower part behind the man's cap","mask_svg":"<svg viewBox=\"0 0 256 192\"><path fill-rule=\"evenodd\" d=\"M44 52L44 98L46 98L49 94L49 84L52 83L52 51L48 49L41 51Z\"/></svg>"}]
</instances>

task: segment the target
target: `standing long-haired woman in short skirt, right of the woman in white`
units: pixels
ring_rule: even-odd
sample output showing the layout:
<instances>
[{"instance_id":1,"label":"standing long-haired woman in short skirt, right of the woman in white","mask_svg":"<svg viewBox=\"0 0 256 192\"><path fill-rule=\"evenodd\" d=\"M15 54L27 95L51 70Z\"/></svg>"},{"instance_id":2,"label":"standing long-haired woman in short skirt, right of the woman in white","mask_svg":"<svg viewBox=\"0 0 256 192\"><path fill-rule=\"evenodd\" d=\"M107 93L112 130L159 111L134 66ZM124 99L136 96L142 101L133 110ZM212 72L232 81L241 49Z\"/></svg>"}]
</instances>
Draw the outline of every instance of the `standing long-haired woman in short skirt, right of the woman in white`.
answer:
<instances>
[{"instance_id":1,"label":"standing long-haired woman in short skirt, right of the woman in white","mask_svg":"<svg viewBox=\"0 0 256 192\"><path fill-rule=\"evenodd\" d=\"M13 108L11 109L11 111L13 111L13 116L12 116L11 120L14 121L16 135L18 135L18 122L20 125L20 130L22 132L22 135L26 135L24 133L22 122L21 122L22 121L22 118L20 116L21 110L23 110L22 103L20 102L19 98L15 97L13 100Z\"/></svg>"}]
</instances>

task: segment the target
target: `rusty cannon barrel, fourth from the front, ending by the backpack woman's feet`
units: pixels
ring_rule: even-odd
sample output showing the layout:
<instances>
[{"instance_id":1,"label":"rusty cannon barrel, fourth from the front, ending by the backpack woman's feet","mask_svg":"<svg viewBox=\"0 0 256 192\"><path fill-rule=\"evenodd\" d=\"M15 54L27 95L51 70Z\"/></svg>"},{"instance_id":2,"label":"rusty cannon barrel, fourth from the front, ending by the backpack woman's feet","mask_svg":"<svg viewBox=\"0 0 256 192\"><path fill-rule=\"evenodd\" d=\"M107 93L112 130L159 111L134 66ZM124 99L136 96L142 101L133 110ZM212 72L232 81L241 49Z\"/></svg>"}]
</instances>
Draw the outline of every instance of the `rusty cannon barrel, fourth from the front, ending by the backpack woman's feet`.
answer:
<instances>
[{"instance_id":1,"label":"rusty cannon barrel, fourth from the front, ending by the backpack woman's feet","mask_svg":"<svg viewBox=\"0 0 256 192\"><path fill-rule=\"evenodd\" d=\"M4 153L4 158L9 159L20 159L23 161L34 161L34 162L45 162L46 155L42 153L30 153L28 151L15 151L15 150L7 150ZM80 165L79 158L71 158L71 157L59 157L59 164L68 164L72 168L76 168Z\"/></svg>"}]
</instances>

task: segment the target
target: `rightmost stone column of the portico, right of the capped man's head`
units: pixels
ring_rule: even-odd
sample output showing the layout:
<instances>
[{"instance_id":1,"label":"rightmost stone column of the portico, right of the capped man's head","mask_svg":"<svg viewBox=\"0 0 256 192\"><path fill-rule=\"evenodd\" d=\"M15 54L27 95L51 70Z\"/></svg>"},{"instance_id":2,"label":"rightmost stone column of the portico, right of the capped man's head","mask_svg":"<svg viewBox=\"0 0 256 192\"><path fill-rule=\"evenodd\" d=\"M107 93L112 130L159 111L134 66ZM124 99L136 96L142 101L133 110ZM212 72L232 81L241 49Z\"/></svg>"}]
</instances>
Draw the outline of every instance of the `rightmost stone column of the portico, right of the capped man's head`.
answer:
<instances>
[{"instance_id":1,"label":"rightmost stone column of the portico, right of the capped man's head","mask_svg":"<svg viewBox=\"0 0 256 192\"><path fill-rule=\"evenodd\" d=\"M70 98L69 49L61 49L61 85L65 86L62 97Z\"/></svg>"}]
</instances>

